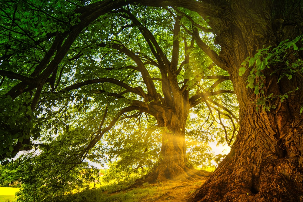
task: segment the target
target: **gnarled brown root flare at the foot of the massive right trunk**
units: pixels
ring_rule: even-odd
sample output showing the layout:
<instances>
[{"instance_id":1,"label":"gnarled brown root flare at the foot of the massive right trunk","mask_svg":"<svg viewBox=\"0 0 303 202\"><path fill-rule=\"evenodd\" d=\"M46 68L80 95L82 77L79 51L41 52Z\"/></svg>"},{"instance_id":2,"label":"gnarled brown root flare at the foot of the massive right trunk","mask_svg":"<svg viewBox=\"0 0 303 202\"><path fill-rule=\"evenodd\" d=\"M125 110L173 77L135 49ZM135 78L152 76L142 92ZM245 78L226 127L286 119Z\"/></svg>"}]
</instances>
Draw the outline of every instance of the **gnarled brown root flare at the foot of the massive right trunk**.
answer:
<instances>
[{"instance_id":1,"label":"gnarled brown root flare at the foot of the massive right trunk","mask_svg":"<svg viewBox=\"0 0 303 202\"><path fill-rule=\"evenodd\" d=\"M283 158L267 161L259 176L254 176L251 170L243 167L243 164L235 165L221 175L222 172L216 170L189 201L303 201L303 176L295 160Z\"/></svg>"}]
</instances>

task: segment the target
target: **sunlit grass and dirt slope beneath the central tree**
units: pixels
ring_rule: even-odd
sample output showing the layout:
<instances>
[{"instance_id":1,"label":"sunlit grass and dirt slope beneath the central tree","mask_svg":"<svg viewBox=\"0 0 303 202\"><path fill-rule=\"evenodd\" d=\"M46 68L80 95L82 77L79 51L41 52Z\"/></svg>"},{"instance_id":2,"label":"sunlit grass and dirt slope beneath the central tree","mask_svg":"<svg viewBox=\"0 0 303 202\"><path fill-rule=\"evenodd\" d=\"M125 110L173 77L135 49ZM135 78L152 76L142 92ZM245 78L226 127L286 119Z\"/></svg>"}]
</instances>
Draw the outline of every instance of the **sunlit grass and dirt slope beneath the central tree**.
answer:
<instances>
[{"instance_id":1,"label":"sunlit grass and dirt slope beneath the central tree","mask_svg":"<svg viewBox=\"0 0 303 202\"><path fill-rule=\"evenodd\" d=\"M57 202L182 202L187 201L191 193L201 187L206 177L195 181L169 181L158 184L145 184L124 191L107 190L105 187L84 190L56 198Z\"/></svg>"}]
</instances>

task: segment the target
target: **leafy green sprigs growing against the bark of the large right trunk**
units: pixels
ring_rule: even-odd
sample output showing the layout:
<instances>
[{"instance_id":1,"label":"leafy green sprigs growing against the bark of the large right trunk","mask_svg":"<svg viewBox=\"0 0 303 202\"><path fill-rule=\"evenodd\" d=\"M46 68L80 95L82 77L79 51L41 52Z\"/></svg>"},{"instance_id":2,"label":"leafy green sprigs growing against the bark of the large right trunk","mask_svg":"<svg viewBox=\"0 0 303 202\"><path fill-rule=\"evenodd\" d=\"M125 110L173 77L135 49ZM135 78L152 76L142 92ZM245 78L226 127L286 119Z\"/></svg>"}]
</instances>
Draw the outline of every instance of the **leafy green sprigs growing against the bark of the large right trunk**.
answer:
<instances>
[{"instance_id":1,"label":"leafy green sprigs growing against the bark of the large right trunk","mask_svg":"<svg viewBox=\"0 0 303 202\"><path fill-rule=\"evenodd\" d=\"M298 48L297 43L303 42L303 36L298 36L292 41L288 39L282 41L277 47L272 48L271 46L259 49L255 56L247 57L244 62L242 62L242 66L239 69L239 75L243 76L246 70L250 70L249 75L247 77L246 82L248 83L246 88L255 89L254 93L256 95L260 95L260 98L256 101L258 110L258 106L262 106L263 110L270 110L275 106L266 105L267 100L273 100L275 98L280 98L281 102L288 98L288 96L296 91L297 89L293 89L288 93L283 95L265 95L265 79L274 74L278 74L279 83L281 79L287 78L288 80L292 79L292 77L297 72L303 72L303 61L300 59L288 58L289 54L293 54L296 56L298 51L303 50L303 48ZM247 67L248 65L248 67ZM270 75L266 74L265 69L272 68Z\"/></svg>"}]
</instances>

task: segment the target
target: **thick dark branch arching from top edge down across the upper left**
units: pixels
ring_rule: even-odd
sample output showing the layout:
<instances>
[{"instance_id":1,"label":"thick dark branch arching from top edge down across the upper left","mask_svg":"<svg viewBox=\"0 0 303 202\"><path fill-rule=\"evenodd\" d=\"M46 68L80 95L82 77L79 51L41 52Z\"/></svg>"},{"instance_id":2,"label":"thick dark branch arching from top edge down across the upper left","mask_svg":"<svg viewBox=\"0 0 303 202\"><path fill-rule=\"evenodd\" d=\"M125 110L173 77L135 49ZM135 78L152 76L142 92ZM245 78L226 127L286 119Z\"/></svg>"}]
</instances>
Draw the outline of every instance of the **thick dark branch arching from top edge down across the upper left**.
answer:
<instances>
[{"instance_id":1,"label":"thick dark branch arching from top edge down across the upper left","mask_svg":"<svg viewBox=\"0 0 303 202\"><path fill-rule=\"evenodd\" d=\"M105 0L75 9L75 13L81 13L81 15L79 16L79 19L81 21L77 25L70 26L68 29L69 32L61 33L58 31L55 33L55 41L52 43L51 48L45 54L40 64L36 66L35 71L31 75L32 77L39 76L39 81L35 82L33 85L30 85L29 89L36 88L38 83L44 84L46 82L46 80L52 74L54 69L56 69L58 64L62 61L62 59L70 49L72 43L78 37L79 33L82 32L85 27L90 25L95 19L97 19L101 15L104 15L108 11L115 8L120 8L123 5L127 5L130 3L133 3L133 1L116 0L115 2L112 2L111 0ZM62 44L62 42L64 43ZM49 62L50 60L51 62ZM14 86L6 94L12 96L12 98L15 99L18 95L22 94L26 87L27 83L22 81L16 86ZM35 95L38 96L38 94L39 92L37 92Z\"/></svg>"}]
</instances>

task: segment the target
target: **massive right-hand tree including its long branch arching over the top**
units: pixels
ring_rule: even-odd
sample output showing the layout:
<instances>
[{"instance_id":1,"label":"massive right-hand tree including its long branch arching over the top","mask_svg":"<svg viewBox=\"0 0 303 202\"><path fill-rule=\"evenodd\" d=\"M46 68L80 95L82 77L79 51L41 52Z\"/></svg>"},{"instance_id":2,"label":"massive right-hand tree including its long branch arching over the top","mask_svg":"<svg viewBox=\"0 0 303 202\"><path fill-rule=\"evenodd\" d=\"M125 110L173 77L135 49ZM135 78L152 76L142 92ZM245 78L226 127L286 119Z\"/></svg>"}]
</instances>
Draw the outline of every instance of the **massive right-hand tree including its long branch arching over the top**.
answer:
<instances>
[{"instance_id":1,"label":"massive right-hand tree including its long branch arching over the top","mask_svg":"<svg viewBox=\"0 0 303 202\"><path fill-rule=\"evenodd\" d=\"M291 41L302 35L301 2L295 0L136 2L149 6L185 7L208 19L216 35L215 43L221 46L221 52L217 55L209 51L204 44L200 46L217 66L229 73L238 96L240 128L235 144L230 154L191 200L302 200L300 115L302 76L298 64L298 59L301 60L302 57L301 49L298 49L301 47L299 44L301 41L288 43L283 48L278 47L280 42L286 39ZM44 69L49 59L52 59L41 77L43 82L51 75L49 72L55 70L58 59L65 55L71 40L80 32L79 29L82 30L96 16L108 10L132 3L102 1L77 9L76 12L81 13L80 24L71 28L71 35L63 32L63 36L56 36L49 53L57 50L59 54L54 58L50 56L45 59L38 68ZM195 34L195 30L190 32L195 40L199 41L199 35ZM67 38L63 40L65 37ZM267 47L270 48L257 52L258 49ZM275 47L278 48L274 49ZM281 49L286 50L287 54ZM255 56L255 59L248 62L250 71L240 76L242 62L251 56ZM266 58L269 61L266 62ZM243 72L242 68L241 74ZM22 83L8 93L15 97L20 95L26 88L26 83L30 82L28 78L20 76L18 78L23 80ZM35 106L41 88L38 84L32 88L35 87L38 93L35 94L32 106ZM285 97L288 99L284 99ZM256 104L259 104L258 108Z\"/></svg>"}]
</instances>

